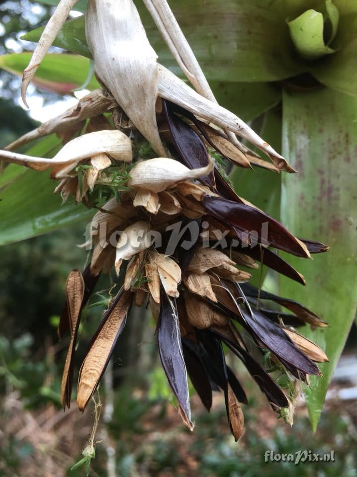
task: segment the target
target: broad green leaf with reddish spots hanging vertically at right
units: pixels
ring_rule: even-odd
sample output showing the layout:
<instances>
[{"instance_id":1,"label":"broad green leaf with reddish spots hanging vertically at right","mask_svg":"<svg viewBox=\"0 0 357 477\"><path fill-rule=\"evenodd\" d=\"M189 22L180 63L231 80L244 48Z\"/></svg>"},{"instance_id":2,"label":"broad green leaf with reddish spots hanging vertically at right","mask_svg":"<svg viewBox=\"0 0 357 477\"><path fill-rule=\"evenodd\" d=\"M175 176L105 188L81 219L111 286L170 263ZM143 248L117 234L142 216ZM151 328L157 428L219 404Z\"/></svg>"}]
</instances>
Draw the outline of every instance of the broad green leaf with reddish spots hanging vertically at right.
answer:
<instances>
[{"instance_id":1,"label":"broad green leaf with reddish spots hanging vertically at right","mask_svg":"<svg viewBox=\"0 0 357 477\"><path fill-rule=\"evenodd\" d=\"M320 240L331 249L314 260L289 261L306 287L281 278L280 293L306 305L329 323L304 334L325 350L330 362L311 377L305 396L313 429L344 347L357 307L357 99L323 89L285 93L283 154L297 174L282 178L281 218L298 237Z\"/></svg>"}]
</instances>

